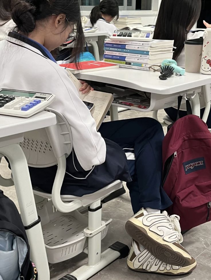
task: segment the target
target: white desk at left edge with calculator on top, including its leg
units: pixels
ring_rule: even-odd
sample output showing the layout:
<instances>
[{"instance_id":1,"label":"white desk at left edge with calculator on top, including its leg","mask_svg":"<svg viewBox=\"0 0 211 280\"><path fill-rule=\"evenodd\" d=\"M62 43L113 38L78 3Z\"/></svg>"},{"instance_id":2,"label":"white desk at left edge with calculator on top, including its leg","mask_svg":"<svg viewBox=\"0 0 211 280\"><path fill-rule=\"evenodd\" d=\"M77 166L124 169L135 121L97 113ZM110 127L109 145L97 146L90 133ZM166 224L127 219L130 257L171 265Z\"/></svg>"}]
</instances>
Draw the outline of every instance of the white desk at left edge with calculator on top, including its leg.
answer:
<instances>
[{"instance_id":1,"label":"white desk at left edge with calculator on top, including its leg","mask_svg":"<svg viewBox=\"0 0 211 280\"><path fill-rule=\"evenodd\" d=\"M41 224L36 223L38 215L28 164L18 143L24 141L24 132L55 124L56 116L46 111L27 119L0 115L0 158L5 156L10 162L22 221L25 227L32 226L26 233L31 249L30 258L36 264L40 280L50 279L50 272L46 269L48 260Z\"/></svg>"}]
</instances>

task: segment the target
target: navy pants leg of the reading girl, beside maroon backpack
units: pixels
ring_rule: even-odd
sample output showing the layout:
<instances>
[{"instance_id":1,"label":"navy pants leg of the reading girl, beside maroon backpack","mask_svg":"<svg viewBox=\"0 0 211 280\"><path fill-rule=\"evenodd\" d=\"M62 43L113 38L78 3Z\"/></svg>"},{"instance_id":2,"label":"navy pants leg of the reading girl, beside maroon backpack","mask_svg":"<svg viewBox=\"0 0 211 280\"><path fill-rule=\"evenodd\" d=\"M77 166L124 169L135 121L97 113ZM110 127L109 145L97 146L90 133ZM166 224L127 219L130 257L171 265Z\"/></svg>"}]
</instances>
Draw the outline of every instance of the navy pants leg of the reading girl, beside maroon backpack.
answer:
<instances>
[{"instance_id":1,"label":"navy pants leg of the reading girl, beside maroon backpack","mask_svg":"<svg viewBox=\"0 0 211 280\"><path fill-rule=\"evenodd\" d=\"M161 124L152 118L136 118L103 123L99 132L119 144L128 158L132 181L127 183L134 213L142 207L163 210L172 204L161 187Z\"/></svg>"}]
</instances>

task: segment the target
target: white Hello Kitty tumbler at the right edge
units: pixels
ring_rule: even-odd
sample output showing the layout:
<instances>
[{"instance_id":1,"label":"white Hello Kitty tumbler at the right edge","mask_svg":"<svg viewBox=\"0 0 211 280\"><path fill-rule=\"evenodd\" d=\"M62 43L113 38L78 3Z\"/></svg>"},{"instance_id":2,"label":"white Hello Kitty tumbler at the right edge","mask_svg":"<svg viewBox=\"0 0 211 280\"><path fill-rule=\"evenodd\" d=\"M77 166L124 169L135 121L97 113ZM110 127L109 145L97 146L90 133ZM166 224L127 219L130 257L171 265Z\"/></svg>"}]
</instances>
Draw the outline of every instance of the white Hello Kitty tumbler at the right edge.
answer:
<instances>
[{"instance_id":1,"label":"white Hello Kitty tumbler at the right edge","mask_svg":"<svg viewBox=\"0 0 211 280\"><path fill-rule=\"evenodd\" d=\"M211 28L207 28L204 31L203 39L204 45L200 72L205 75L211 75Z\"/></svg>"}]
</instances>

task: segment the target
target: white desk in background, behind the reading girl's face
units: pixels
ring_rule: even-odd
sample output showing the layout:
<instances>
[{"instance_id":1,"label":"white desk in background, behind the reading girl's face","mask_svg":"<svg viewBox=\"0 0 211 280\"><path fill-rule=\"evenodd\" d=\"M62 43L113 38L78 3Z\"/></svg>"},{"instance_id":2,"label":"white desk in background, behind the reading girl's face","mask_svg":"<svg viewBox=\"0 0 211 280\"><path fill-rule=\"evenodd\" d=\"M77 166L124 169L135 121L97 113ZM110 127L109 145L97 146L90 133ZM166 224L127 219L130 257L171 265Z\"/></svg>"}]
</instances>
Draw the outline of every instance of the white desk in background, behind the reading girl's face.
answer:
<instances>
[{"instance_id":1,"label":"white desk in background, behind the reading girl's face","mask_svg":"<svg viewBox=\"0 0 211 280\"><path fill-rule=\"evenodd\" d=\"M98 37L99 36L108 36L108 32L93 32L93 33L84 33L85 35L85 40L88 44L90 44L93 47L94 51L94 57L97 61L100 60L99 57L99 48L97 45ZM68 49L68 48L73 48L74 47L74 42L72 44L67 45L67 47L60 47L61 49Z\"/></svg>"}]
</instances>

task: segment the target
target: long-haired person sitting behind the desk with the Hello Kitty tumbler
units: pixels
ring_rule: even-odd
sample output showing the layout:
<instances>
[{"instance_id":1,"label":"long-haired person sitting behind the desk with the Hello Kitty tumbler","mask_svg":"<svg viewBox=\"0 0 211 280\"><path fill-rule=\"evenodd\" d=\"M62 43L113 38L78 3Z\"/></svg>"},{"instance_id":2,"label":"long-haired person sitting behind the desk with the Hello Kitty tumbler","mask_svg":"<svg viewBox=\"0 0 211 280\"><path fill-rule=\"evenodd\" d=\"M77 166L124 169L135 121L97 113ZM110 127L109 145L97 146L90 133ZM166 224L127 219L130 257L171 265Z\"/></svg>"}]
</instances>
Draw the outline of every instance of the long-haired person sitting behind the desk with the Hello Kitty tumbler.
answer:
<instances>
[{"instance_id":1,"label":"long-haired person sitting behind the desk with the Hello Kitty tumbler","mask_svg":"<svg viewBox=\"0 0 211 280\"><path fill-rule=\"evenodd\" d=\"M203 36L204 31L191 31L198 21L201 12L201 0L162 0L155 26L154 39L174 40L173 59L177 65L185 67L184 41L197 39ZM206 22L205 22L206 25ZM201 117L204 113L204 96L200 94ZM170 107L165 109L169 116L169 122L177 118L177 109ZM181 105L179 116L187 115L186 106ZM207 120L208 127L211 128L211 114Z\"/></svg>"}]
</instances>

